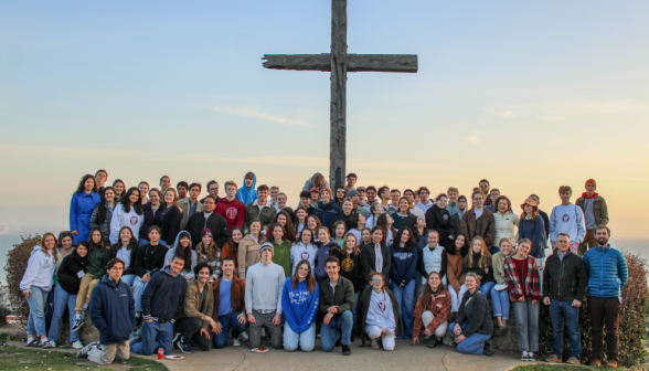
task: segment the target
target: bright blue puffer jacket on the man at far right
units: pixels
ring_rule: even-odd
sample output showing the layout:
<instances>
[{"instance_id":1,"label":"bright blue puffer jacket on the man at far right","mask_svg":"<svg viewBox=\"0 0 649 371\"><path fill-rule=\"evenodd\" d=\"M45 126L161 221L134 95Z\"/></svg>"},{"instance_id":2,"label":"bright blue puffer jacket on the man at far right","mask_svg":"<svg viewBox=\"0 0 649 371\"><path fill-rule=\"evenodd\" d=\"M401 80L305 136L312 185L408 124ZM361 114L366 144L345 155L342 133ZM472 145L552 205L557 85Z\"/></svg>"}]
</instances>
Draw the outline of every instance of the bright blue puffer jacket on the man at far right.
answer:
<instances>
[{"instance_id":1,"label":"bright blue puffer jacket on the man at far right","mask_svg":"<svg viewBox=\"0 0 649 371\"><path fill-rule=\"evenodd\" d=\"M627 261L619 250L608 245L595 246L584 254L584 267L588 276L588 294L598 298L620 296L629 272Z\"/></svg>"}]
</instances>

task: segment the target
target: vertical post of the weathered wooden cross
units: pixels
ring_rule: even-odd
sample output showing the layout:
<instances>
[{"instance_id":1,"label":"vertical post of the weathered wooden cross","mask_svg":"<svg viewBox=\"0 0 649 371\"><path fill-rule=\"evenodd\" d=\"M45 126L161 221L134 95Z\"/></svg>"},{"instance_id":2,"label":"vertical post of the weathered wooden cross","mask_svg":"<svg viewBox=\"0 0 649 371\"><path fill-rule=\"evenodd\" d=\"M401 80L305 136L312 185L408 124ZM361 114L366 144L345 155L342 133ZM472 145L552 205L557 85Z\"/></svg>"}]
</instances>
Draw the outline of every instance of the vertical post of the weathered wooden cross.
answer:
<instances>
[{"instance_id":1,"label":"vertical post of the weathered wooden cross","mask_svg":"<svg viewBox=\"0 0 649 371\"><path fill-rule=\"evenodd\" d=\"M331 138L329 184L342 184L347 165L347 0L331 1Z\"/></svg>"}]
</instances>

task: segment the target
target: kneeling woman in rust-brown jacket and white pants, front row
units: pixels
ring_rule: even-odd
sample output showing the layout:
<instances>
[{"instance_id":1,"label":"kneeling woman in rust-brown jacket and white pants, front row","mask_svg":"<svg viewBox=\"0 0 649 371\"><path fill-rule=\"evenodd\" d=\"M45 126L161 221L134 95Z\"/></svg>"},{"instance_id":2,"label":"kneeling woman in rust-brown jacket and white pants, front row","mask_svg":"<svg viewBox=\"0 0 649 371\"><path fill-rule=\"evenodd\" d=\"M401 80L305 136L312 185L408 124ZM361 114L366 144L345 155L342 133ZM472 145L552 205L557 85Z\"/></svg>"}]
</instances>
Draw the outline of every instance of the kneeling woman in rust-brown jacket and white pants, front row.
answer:
<instances>
[{"instance_id":1,"label":"kneeling woman in rust-brown jacket and white pants, front row","mask_svg":"<svg viewBox=\"0 0 649 371\"><path fill-rule=\"evenodd\" d=\"M424 330L425 338L430 339L428 348L435 348L441 342L441 338L444 338L448 329L447 319L450 314L450 294L444 287L441 276L437 272L430 272L424 293L422 293L415 306L415 327L411 346L419 342L422 325L426 328Z\"/></svg>"}]
</instances>

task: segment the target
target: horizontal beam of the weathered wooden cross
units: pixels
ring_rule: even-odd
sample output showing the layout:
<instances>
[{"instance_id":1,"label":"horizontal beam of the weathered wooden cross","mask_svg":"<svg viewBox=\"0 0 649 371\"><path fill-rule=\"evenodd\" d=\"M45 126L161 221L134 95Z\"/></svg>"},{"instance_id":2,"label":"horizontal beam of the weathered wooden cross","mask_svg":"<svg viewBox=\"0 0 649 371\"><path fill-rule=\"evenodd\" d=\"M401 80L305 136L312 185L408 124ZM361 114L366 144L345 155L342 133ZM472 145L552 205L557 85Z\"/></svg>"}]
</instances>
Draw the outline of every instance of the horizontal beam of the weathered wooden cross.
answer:
<instances>
[{"instance_id":1,"label":"horizontal beam of the weathered wooden cross","mask_svg":"<svg viewBox=\"0 0 649 371\"><path fill-rule=\"evenodd\" d=\"M331 71L331 54L265 54L264 68ZM347 54L347 72L416 73L416 54Z\"/></svg>"}]
</instances>

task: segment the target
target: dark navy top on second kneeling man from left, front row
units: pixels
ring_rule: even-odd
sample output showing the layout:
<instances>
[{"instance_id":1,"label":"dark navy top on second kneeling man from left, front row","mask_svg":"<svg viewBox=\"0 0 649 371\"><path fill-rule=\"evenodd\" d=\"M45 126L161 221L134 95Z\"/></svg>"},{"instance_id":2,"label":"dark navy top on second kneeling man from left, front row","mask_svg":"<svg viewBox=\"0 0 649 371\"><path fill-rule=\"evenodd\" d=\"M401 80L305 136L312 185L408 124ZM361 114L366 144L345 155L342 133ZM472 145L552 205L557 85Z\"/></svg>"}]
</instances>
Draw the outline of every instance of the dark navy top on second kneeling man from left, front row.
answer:
<instances>
[{"instance_id":1,"label":"dark navy top on second kneeling man from left, front row","mask_svg":"<svg viewBox=\"0 0 649 371\"><path fill-rule=\"evenodd\" d=\"M183 300L187 279L179 273L171 275L169 266L155 273L142 294L142 318L156 322L175 322L184 310Z\"/></svg>"}]
</instances>

